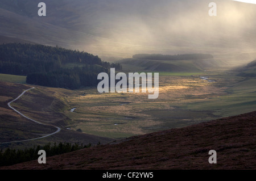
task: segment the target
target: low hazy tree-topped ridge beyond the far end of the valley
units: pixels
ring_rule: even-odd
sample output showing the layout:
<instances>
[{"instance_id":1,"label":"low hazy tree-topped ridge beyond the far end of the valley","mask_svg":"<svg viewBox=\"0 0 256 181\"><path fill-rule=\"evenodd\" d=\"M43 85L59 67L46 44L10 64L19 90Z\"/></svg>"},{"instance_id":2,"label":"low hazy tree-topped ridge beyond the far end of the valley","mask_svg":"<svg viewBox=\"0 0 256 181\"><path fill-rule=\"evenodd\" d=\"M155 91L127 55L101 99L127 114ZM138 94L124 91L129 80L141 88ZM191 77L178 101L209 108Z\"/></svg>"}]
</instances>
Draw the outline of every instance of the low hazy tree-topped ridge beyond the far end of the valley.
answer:
<instances>
[{"instance_id":1,"label":"low hazy tree-topped ridge beyond the far end of the valley","mask_svg":"<svg viewBox=\"0 0 256 181\"><path fill-rule=\"evenodd\" d=\"M137 69L167 72L197 72L227 64L224 60L215 59L211 54L135 54L133 58L118 62Z\"/></svg>"}]
</instances>

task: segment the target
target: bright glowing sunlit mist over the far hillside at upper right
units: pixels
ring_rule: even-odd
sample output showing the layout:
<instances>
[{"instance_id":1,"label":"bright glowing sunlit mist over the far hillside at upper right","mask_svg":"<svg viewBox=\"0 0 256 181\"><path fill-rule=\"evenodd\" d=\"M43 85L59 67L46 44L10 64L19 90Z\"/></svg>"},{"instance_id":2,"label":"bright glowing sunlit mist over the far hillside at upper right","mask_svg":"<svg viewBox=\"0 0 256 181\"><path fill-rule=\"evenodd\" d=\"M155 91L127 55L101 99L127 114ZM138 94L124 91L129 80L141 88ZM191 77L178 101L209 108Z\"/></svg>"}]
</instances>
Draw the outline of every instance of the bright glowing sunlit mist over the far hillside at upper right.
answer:
<instances>
[{"instance_id":1,"label":"bright glowing sunlit mist over the far hillside at upper right","mask_svg":"<svg viewBox=\"0 0 256 181\"><path fill-rule=\"evenodd\" d=\"M254 51L255 5L214 2L217 16L209 16L209 2L199 0L149 0L109 7L109 21L98 20L105 28L94 34L107 38L109 45L106 49L103 42L98 50L128 54Z\"/></svg>"}]
</instances>

